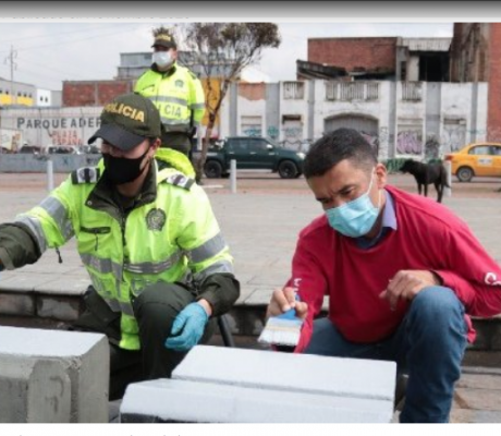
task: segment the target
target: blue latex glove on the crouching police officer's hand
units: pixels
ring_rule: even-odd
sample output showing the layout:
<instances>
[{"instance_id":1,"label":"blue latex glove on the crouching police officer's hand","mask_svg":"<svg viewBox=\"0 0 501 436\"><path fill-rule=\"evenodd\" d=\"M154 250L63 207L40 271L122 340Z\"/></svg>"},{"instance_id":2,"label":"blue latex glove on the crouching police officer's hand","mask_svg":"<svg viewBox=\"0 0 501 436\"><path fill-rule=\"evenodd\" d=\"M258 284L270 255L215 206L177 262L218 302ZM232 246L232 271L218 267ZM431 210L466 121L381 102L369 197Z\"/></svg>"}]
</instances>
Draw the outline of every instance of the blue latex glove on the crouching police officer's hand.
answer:
<instances>
[{"instance_id":1,"label":"blue latex glove on the crouching police officer's hand","mask_svg":"<svg viewBox=\"0 0 501 436\"><path fill-rule=\"evenodd\" d=\"M205 308L198 303L184 307L172 324L171 336L166 340L166 348L175 351L188 351L195 347L204 335L209 320Z\"/></svg>"}]
</instances>

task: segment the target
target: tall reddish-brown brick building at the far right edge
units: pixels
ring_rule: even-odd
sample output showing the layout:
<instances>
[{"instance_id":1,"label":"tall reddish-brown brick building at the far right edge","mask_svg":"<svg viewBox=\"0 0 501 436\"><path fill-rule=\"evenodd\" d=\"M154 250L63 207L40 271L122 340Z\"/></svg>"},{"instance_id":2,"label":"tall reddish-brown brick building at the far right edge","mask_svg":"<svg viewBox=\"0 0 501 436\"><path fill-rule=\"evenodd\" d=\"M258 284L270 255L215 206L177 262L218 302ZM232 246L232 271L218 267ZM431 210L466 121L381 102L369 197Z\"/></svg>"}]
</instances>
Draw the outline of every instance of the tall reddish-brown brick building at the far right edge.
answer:
<instances>
[{"instance_id":1,"label":"tall reddish-brown brick building at the far right edge","mask_svg":"<svg viewBox=\"0 0 501 436\"><path fill-rule=\"evenodd\" d=\"M488 141L501 141L501 23L455 23L451 80L488 82Z\"/></svg>"}]
</instances>

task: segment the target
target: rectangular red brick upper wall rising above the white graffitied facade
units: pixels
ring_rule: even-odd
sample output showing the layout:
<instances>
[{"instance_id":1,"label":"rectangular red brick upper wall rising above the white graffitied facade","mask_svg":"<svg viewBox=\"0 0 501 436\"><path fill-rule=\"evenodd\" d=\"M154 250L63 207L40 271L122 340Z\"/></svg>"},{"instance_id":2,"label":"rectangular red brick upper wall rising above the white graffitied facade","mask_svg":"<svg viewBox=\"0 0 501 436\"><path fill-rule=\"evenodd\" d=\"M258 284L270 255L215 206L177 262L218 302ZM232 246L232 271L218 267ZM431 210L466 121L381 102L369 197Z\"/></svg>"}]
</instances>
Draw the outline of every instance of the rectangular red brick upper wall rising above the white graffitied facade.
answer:
<instances>
[{"instance_id":1,"label":"rectangular red brick upper wall rising above the white graffitied facade","mask_svg":"<svg viewBox=\"0 0 501 436\"><path fill-rule=\"evenodd\" d=\"M309 38L308 62L395 71L396 38Z\"/></svg>"}]
</instances>

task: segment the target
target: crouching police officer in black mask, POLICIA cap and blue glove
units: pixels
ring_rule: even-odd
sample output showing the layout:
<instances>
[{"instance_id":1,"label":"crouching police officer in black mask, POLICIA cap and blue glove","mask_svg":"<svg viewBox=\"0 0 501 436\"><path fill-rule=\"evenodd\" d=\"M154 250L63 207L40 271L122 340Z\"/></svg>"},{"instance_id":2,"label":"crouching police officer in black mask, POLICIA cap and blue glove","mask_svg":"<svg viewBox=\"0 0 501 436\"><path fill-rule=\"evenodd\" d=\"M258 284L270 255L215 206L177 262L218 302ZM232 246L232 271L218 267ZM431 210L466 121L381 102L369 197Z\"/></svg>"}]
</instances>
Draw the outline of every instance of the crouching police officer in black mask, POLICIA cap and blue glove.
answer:
<instances>
[{"instance_id":1,"label":"crouching police officer in black mask, POLICIA cap and blue glove","mask_svg":"<svg viewBox=\"0 0 501 436\"><path fill-rule=\"evenodd\" d=\"M110 399L169 377L240 294L209 199L159 148L160 117L137 94L105 106L97 167L75 170L37 207L0 226L0 270L75 237L93 286L78 330L107 335ZM175 153L178 157L186 159ZM173 165L174 164L174 165Z\"/></svg>"}]
</instances>

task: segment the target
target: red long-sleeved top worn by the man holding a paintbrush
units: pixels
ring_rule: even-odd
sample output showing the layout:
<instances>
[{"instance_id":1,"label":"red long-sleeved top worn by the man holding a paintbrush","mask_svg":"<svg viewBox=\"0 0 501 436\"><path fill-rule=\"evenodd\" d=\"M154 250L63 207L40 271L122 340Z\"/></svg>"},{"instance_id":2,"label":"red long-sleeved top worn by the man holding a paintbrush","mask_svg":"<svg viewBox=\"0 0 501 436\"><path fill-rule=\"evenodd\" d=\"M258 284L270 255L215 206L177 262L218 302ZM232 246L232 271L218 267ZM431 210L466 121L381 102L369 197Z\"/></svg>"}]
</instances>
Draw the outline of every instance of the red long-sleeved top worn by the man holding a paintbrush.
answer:
<instances>
[{"instance_id":1,"label":"red long-sleeved top worn by the man holding a paintbrush","mask_svg":"<svg viewBox=\"0 0 501 436\"><path fill-rule=\"evenodd\" d=\"M308 344L313 319L329 295L329 318L353 342L388 338L401 324L408 302L394 312L378 295L401 269L437 272L451 288L466 313L493 316L501 313L501 268L486 253L467 225L447 207L387 186L392 195L398 229L375 246L364 250L354 239L334 231L325 215L302 230L288 286L297 288L308 303L296 352ZM469 316L468 341L475 340Z\"/></svg>"}]
</instances>

